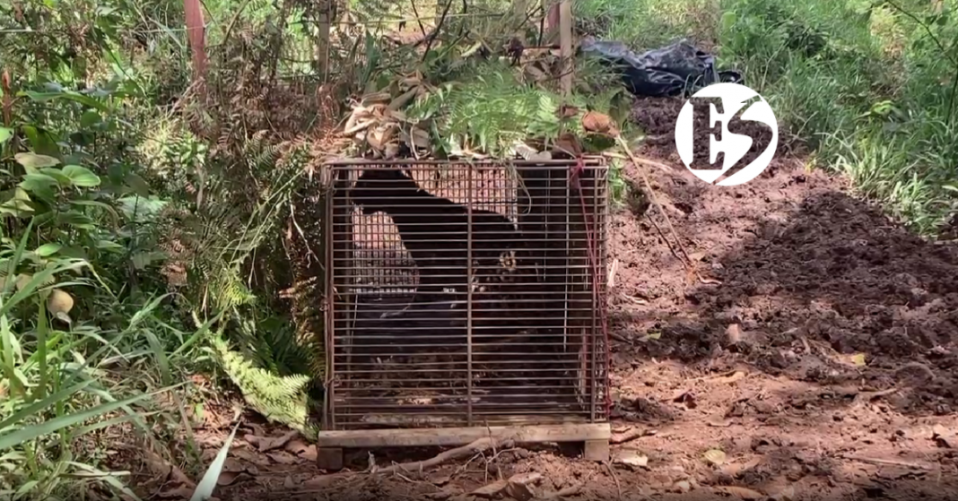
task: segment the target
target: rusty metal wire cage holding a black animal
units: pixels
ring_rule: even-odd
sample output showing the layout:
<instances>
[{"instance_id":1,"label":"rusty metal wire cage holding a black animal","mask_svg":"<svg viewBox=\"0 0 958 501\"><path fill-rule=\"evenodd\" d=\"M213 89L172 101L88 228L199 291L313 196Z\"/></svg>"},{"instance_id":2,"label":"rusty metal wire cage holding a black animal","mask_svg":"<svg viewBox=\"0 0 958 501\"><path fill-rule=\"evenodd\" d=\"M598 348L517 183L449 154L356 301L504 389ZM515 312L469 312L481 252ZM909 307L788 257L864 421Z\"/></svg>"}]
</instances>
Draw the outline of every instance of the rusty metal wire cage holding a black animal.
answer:
<instances>
[{"instance_id":1,"label":"rusty metal wire cage holding a black animal","mask_svg":"<svg viewBox=\"0 0 958 501\"><path fill-rule=\"evenodd\" d=\"M331 163L324 429L605 421L607 170L577 165Z\"/></svg>"}]
</instances>

